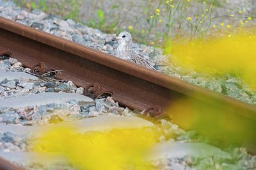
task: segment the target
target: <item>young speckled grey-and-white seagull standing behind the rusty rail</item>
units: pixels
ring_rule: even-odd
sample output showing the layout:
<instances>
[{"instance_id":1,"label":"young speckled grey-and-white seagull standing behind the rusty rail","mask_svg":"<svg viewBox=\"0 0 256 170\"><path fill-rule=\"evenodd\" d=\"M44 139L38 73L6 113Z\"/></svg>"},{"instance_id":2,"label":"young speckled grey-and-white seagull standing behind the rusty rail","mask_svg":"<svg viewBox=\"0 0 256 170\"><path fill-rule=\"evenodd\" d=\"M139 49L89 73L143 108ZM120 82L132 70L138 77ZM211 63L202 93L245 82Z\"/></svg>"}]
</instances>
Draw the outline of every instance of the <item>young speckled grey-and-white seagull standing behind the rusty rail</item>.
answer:
<instances>
[{"instance_id":1,"label":"young speckled grey-and-white seagull standing behind the rusty rail","mask_svg":"<svg viewBox=\"0 0 256 170\"><path fill-rule=\"evenodd\" d=\"M116 38L113 38L112 41L117 41L119 44L116 50L116 57L156 70L150 61L134 52L132 49L132 36L127 31L123 31Z\"/></svg>"}]
</instances>

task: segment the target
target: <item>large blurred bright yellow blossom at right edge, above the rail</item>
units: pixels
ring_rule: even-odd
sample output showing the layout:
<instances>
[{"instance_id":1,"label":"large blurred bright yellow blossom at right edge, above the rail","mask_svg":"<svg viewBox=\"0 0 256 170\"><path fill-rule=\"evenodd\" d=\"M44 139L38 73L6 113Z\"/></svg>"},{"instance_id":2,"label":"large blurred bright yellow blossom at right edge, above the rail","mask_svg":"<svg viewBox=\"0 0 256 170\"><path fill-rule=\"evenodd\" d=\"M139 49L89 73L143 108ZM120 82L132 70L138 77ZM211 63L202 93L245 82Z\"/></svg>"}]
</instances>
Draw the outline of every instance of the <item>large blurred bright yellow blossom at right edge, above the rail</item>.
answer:
<instances>
[{"instance_id":1,"label":"large blurred bright yellow blossom at right edge, above the rail","mask_svg":"<svg viewBox=\"0 0 256 170\"><path fill-rule=\"evenodd\" d=\"M172 42L164 52L172 54L173 63L203 73L239 73L239 76L256 89L256 31L239 31L191 42ZM184 50L186 49L186 50ZM243 57L241 57L243 56Z\"/></svg>"}]
</instances>

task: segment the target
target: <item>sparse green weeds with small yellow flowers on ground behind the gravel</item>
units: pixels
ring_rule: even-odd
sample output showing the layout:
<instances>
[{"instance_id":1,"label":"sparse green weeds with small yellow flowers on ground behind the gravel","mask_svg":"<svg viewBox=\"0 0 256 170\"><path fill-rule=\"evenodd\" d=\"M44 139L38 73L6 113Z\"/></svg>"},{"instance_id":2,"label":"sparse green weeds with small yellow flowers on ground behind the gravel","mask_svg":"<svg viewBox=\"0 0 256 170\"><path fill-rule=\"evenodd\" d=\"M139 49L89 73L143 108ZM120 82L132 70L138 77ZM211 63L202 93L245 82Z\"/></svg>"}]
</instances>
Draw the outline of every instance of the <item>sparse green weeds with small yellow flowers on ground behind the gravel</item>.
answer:
<instances>
[{"instance_id":1,"label":"sparse green weeds with small yellow flowers on ground behind the gravel","mask_svg":"<svg viewBox=\"0 0 256 170\"><path fill-rule=\"evenodd\" d=\"M63 19L72 19L81 22L81 4L84 0L14 0L19 6L26 6L30 10L39 9L46 13L54 13L60 15ZM233 28L232 23L237 20L242 20L236 26L242 29L253 16L246 16L244 14L245 7L241 4L240 8L230 11L225 16L214 16L212 13L216 8L225 6L225 1L218 0L177 0L177 1L140 1L134 5L133 1L112 1L108 2L110 7L105 10L106 1L102 4L93 3L93 8L88 9L88 13L95 13L93 17L88 19L85 17L84 24L87 26L100 29L106 33L120 33L120 31L127 31L136 37L135 41L154 46L162 46L166 40L188 39L188 40L202 40L209 32L215 32L225 29L228 24ZM227 6L226 6L227 7ZM132 19L129 15L131 10L138 10ZM239 13L236 16L237 9ZM229 11L229 10L228 10ZM243 16L241 15L243 13ZM234 17L230 17L230 15ZM244 16L245 15L245 16ZM252 15L252 14L251 14ZM133 16L133 15L132 15ZM229 16L229 18L228 18ZM220 26L223 22L214 22L213 20L221 19L230 20L229 23ZM250 17L250 20L246 20ZM214 26L214 30L213 27ZM227 31L227 30L224 30Z\"/></svg>"}]
</instances>

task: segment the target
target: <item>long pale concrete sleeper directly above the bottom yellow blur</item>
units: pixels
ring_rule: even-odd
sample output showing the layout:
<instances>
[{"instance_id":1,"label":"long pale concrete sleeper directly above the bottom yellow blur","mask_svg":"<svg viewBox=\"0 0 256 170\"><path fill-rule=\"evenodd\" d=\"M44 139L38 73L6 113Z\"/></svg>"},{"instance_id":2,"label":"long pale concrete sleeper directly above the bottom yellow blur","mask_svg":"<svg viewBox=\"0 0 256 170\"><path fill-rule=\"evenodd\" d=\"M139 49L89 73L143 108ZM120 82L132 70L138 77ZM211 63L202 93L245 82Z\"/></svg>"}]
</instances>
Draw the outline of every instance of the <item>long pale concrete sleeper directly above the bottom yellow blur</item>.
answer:
<instances>
[{"instance_id":1,"label":"long pale concrete sleeper directly above the bottom yellow blur","mask_svg":"<svg viewBox=\"0 0 256 170\"><path fill-rule=\"evenodd\" d=\"M77 133L85 133L90 131L109 131L113 129L122 128L143 128L154 127L154 124L150 121L143 120L138 117L129 116L100 116L95 118L86 118L77 121L68 121L59 124L47 125L47 126L21 126L21 125L0 125L0 133L12 132L14 134L27 135L32 134L37 137L45 130L51 130L58 127L70 127L76 128ZM41 133L40 133L41 132Z\"/></svg>"}]
</instances>

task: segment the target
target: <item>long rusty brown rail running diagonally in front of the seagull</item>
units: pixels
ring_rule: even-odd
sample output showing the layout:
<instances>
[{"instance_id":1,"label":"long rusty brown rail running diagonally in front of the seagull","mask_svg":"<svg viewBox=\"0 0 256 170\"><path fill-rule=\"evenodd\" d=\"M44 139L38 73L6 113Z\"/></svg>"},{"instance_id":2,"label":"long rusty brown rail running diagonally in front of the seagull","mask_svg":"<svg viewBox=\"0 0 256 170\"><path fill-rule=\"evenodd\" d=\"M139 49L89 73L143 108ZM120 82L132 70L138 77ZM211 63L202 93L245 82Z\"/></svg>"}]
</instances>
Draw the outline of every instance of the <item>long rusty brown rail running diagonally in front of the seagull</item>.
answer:
<instances>
[{"instance_id":1,"label":"long rusty brown rail running diagonally in front of the seagull","mask_svg":"<svg viewBox=\"0 0 256 170\"><path fill-rule=\"evenodd\" d=\"M216 139L229 137L251 151L256 148L255 105L2 17L0 28L0 50L11 52L24 66L63 70L59 79L70 80L85 91L93 88L93 94L86 91L86 95L108 93L131 109L153 110L153 116L170 114L182 128L196 129Z\"/></svg>"}]
</instances>

